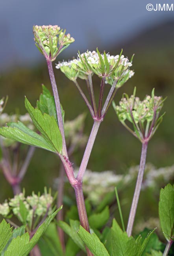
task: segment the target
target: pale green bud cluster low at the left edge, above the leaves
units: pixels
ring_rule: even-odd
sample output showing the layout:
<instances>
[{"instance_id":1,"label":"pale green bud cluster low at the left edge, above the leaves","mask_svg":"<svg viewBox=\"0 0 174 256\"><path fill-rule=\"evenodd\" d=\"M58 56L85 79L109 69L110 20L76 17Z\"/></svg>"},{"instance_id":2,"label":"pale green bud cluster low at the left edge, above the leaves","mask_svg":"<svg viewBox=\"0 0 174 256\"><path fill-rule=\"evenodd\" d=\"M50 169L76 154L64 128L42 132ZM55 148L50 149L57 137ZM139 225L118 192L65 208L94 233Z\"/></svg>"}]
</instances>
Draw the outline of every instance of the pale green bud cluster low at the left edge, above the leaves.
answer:
<instances>
[{"instance_id":1,"label":"pale green bud cluster low at the left edge, above the leaves","mask_svg":"<svg viewBox=\"0 0 174 256\"><path fill-rule=\"evenodd\" d=\"M9 202L5 201L0 204L0 214L7 217L12 210L13 214L23 223L22 211L25 208L26 222L30 226L33 218L43 217L45 214L49 215L52 212L53 201L53 197L46 190L41 196L33 192L31 196L25 197L25 192L23 192L9 199Z\"/></svg>"}]
</instances>

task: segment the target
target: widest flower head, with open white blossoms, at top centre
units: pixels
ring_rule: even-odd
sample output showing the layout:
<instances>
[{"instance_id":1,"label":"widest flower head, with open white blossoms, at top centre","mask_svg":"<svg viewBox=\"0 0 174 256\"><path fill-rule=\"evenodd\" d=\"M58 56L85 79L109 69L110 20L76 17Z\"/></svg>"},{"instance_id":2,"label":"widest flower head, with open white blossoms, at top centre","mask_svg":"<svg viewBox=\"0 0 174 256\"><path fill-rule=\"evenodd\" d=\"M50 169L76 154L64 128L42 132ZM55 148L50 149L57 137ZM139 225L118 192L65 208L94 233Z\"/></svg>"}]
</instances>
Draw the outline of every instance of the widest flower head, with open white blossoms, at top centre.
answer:
<instances>
[{"instance_id":1,"label":"widest flower head, with open white blossoms, at top centre","mask_svg":"<svg viewBox=\"0 0 174 256\"><path fill-rule=\"evenodd\" d=\"M111 56L109 53L100 54L98 51L87 51L78 54L77 59L63 61L56 64L70 80L77 78L87 79L89 74L96 74L99 77L106 77L106 83L117 82L120 87L134 74L130 67L131 61L124 55Z\"/></svg>"}]
</instances>

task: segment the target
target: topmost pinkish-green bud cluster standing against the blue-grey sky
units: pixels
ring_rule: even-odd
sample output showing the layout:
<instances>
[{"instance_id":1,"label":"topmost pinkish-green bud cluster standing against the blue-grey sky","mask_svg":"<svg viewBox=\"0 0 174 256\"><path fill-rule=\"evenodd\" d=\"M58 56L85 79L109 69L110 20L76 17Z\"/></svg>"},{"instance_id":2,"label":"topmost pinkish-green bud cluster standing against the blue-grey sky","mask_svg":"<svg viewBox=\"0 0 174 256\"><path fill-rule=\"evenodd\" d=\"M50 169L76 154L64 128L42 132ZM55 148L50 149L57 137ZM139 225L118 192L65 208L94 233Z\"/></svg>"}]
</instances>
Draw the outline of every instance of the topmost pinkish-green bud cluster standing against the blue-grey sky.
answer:
<instances>
[{"instance_id":1,"label":"topmost pinkish-green bud cluster standing against the blue-grey sky","mask_svg":"<svg viewBox=\"0 0 174 256\"><path fill-rule=\"evenodd\" d=\"M33 26L36 46L46 59L54 61L62 50L74 42L74 38L70 34L65 35L65 32L57 25Z\"/></svg>"}]
</instances>

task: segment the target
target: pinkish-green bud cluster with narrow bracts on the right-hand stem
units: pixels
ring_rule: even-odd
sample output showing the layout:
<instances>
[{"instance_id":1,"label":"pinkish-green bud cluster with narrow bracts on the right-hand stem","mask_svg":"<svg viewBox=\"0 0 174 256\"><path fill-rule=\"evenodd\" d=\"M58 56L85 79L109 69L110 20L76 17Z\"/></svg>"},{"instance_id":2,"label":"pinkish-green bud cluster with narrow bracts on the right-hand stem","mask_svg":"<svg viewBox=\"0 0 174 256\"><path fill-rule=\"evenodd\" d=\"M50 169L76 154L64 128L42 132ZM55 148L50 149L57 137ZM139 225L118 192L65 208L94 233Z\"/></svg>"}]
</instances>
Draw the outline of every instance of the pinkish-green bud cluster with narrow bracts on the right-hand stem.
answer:
<instances>
[{"instance_id":1,"label":"pinkish-green bud cluster with narrow bracts on the right-hand stem","mask_svg":"<svg viewBox=\"0 0 174 256\"><path fill-rule=\"evenodd\" d=\"M133 133L135 137L138 137L140 141L143 141L143 139L149 140L162 121L164 114L159 117L159 113L165 99L161 96L155 96L153 89L152 96L147 95L144 100L141 101L139 97L135 97L135 92L136 88L130 98L127 94L124 94L122 100L119 102L119 106L116 106L113 102L113 107L119 121ZM135 133L125 121L129 121L133 124Z\"/></svg>"}]
</instances>

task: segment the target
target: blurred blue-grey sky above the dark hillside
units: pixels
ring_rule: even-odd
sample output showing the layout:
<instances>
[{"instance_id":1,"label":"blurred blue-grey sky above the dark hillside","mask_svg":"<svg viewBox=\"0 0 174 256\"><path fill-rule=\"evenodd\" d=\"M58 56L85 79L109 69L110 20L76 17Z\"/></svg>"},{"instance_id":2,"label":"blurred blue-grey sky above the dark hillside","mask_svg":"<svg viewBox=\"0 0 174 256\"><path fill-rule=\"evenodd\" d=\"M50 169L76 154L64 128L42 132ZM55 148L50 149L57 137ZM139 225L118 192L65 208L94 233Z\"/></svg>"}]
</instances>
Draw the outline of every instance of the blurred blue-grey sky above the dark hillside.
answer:
<instances>
[{"instance_id":1,"label":"blurred blue-grey sky above the dark hillside","mask_svg":"<svg viewBox=\"0 0 174 256\"><path fill-rule=\"evenodd\" d=\"M147 4L166 0L1 0L0 70L42 59L33 42L32 26L58 24L75 42L67 58L78 50L106 49L129 40L144 29L174 19L174 11L147 11ZM66 56L64 56L66 57Z\"/></svg>"}]
</instances>

